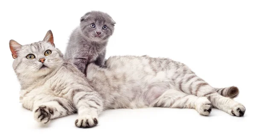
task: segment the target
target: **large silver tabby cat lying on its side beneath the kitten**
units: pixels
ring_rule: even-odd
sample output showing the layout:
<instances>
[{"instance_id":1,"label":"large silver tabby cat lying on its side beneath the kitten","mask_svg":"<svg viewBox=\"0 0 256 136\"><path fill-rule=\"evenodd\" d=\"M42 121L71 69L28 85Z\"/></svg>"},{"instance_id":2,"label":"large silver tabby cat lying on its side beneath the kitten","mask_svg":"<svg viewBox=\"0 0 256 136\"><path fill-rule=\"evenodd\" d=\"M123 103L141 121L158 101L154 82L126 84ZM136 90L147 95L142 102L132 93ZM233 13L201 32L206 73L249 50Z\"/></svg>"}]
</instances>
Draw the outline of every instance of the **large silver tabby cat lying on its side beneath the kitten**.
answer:
<instances>
[{"instance_id":1,"label":"large silver tabby cat lying on its side beneath the kitten","mask_svg":"<svg viewBox=\"0 0 256 136\"><path fill-rule=\"evenodd\" d=\"M194 108L205 116L212 106L238 117L245 112L231 99L238 88L212 88L186 65L169 58L113 56L106 68L90 63L85 77L64 61L51 31L43 41L22 46L10 40L9 47L21 85L20 103L43 124L78 112L76 127L90 128L98 124L102 111L113 108Z\"/></svg>"}]
</instances>

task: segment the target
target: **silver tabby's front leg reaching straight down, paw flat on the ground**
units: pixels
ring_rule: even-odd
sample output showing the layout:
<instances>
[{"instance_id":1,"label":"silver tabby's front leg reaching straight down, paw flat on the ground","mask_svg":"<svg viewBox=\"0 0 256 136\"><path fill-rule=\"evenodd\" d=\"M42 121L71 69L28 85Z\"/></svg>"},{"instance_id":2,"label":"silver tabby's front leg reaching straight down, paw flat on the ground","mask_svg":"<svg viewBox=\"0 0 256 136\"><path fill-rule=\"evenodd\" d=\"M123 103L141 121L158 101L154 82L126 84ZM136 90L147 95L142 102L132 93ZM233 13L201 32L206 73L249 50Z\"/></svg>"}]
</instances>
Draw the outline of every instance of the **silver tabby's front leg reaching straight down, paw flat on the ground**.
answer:
<instances>
[{"instance_id":1,"label":"silver tabby's front leg reaching straight down, paw flat on the ground","mask_svg":"<svg viewBox=\"0 0 256 136\"><path fill-rule=\"evenodd\" d=\"M75 125L79 128L91 128L98 124L98 115L103 110L103 102L95 91L80 91L74 94L73 103L78 110Z\"/></svg>"}]
</instances>

